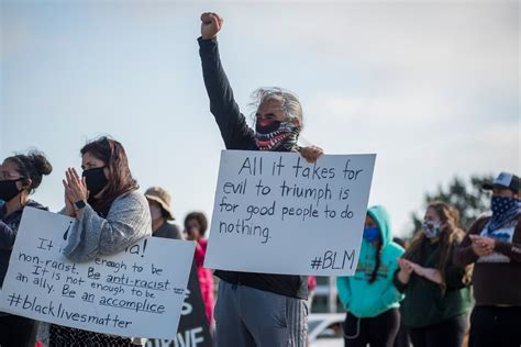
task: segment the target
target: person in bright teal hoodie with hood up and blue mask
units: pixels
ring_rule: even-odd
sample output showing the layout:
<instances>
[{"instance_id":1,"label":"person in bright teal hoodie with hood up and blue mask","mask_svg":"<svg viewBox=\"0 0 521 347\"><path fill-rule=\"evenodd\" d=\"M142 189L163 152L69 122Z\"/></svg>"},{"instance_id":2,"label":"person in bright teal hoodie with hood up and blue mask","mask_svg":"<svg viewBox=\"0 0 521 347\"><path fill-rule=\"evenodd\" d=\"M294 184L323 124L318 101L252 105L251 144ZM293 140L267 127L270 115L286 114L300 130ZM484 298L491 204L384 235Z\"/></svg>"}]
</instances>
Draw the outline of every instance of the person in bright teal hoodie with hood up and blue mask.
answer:
<instances>
[{"instance_id":1,"label":"person in bright teal hoodie with hood up and blue mask","mask_svg":"<svg viewBox=\"0 0 521 347\"><path fill-rule=\"evenodd\" d=\"M347 311L345 346L391 347L400 327L403 299L392 283L403 248L392 242L389 215L383 206L367 211L358 266L353 277L339 277L340 301Z\"/></svg>"}]
</instances>

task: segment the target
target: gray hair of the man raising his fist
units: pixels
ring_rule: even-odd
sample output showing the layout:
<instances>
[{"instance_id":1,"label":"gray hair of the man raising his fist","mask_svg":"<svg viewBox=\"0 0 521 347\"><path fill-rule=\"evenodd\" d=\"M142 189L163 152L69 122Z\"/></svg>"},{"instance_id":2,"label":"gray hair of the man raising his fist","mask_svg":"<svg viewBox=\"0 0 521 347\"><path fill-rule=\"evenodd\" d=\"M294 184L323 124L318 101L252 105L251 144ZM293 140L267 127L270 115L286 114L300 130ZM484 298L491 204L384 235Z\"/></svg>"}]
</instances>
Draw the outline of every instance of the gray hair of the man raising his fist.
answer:
<instances>
[{"instance_id":1,"label":"gray hair of the man raising his fist","mask_svg":"<svg viewBox=\"0 0 521 347\"><path fill-rule=\"evenodd\" d=\"M278 87L262 87L252 92L248 107L253 109L252 117L255 120L257 109L269 100L277 100L281 103L282 113L289 120L298 120L299 127L302 130L302 105L293 92Z\"/></svg>"}]
</instances>

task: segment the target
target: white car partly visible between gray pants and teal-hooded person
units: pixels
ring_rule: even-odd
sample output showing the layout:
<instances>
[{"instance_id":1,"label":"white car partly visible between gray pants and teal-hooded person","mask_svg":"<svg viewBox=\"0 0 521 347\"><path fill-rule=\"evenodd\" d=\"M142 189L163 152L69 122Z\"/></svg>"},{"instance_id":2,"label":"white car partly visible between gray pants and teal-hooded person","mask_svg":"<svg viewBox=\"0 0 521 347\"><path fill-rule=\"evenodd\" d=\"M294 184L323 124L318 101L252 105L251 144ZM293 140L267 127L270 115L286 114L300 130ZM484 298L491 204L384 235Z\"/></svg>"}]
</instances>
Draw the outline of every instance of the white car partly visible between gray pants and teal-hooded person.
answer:
<instances>
[{"instance_id":1,"label":"white car partly visible between gray pants and teal-hooded person","mask_svg":"<svg viewBox=\"0 0 521 347\"><path fill-rule=\"evenodd\" d=\"M310 347L344 346L342 324L345 313L315 313L308 317L308 338Z\"/></svg>"}]
</instances>

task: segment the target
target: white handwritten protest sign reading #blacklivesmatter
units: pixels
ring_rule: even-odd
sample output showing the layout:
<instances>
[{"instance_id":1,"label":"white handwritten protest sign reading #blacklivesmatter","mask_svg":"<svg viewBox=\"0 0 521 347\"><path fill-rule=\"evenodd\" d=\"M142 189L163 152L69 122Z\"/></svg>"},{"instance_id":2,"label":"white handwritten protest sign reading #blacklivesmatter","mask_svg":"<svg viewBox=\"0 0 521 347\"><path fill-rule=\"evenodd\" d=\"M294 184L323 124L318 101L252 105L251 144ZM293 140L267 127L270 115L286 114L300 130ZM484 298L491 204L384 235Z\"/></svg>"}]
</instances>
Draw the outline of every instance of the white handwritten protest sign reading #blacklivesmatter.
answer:
<instances>
[{"instance_id":1,"label":"white handwritten protest sign reading #blacklivesmatter","mask_svg":"<svg viewBox=\"0 0 521 347\"><path fill-rule=\"evenodd\" d=\"M195 243L149 237L76 264L60 253L73 223L24 210L0 311L98 333L176 337Z\"/></svg>"}]
</instances>

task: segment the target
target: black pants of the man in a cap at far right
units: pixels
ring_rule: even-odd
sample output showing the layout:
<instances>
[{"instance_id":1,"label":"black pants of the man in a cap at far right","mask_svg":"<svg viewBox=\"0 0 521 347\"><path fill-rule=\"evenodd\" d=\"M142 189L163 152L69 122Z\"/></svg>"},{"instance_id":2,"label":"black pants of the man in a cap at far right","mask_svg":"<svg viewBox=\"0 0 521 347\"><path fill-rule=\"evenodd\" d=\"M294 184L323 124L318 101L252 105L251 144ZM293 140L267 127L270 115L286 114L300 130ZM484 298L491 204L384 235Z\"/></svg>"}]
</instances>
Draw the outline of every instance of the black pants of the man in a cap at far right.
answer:
<instances>
[{"instance_id":1,"label":"black pants of the man in a cap at far right","mask_svg":"<svg viewBox=\"0 0 521 347\"><path fill-rule=\"evenodd\" d=\"M521 346L521 307L475 306L468 346Z\"/></svg>"}]
</instances>

